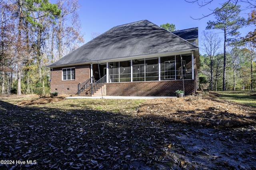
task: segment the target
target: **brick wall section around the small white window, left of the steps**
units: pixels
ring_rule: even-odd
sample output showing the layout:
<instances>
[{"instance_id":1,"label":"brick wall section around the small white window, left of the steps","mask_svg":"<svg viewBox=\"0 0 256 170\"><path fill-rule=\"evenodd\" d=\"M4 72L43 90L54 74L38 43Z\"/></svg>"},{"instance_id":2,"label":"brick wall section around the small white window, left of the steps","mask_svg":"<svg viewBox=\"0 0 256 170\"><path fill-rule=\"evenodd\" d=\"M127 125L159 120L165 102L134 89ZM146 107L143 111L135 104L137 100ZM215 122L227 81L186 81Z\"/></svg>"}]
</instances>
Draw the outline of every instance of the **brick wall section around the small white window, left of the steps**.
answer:
<instances>
[{"instance_id":1,"label":"brick wall section around the small white window, left of the steps","mask_svg":"<svg viewBox=\"0 0 256 170\"><path fill-rule=\"evenodd\" d=\"M62 68L53 68L51 71L51 92L59 94L76 94L78 84L90 78L90 64L75 66L75 80L62 80Z\"/></svg>"}]
</instances>

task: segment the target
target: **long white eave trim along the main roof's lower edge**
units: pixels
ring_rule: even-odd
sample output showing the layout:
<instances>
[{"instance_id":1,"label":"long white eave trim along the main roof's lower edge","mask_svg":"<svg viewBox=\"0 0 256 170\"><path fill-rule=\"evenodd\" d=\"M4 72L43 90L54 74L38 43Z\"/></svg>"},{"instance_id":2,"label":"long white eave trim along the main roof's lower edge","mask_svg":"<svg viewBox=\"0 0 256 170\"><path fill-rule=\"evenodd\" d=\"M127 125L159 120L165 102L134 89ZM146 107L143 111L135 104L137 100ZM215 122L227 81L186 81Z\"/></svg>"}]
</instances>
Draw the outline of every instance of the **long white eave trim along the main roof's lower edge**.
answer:
<instances>
[{"instance_id":1,"label":"long white eave trim along the main roof's lower edge","mask_svg":"<svg viewBox=\"0 0 256 170\"><path fill-rule=\"evenodd\" d=\"M188 54L194 52L194 57L196 61L198 61L198 68L199 68L199 48L189 49L189 50L180 50L180 51L172 51L172 52L164 52L164 53L154 53L154 54L147 54L147 55L138 55L138 56L130 56L130 57L120 57L115 59L105 59L105 60L96 60L96 61L88 61L82 63L72 63L72 64L62 64L56 66L47 66L50 68L58 68L63 66L75 66L75 65L82 65L82 64L97 64L99 63L107 63L107 62L115 62L115 61L127 61L133 59L143 59L143 58L154 58L154 57L165 57L170 55L180 55L180 54Z\"/></svg>"}]
</instances>

